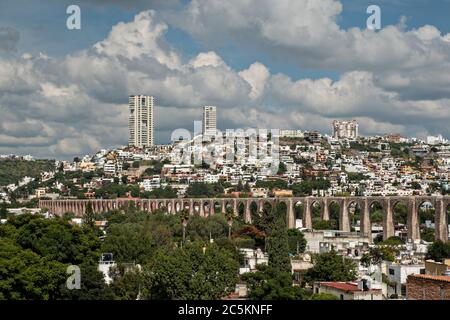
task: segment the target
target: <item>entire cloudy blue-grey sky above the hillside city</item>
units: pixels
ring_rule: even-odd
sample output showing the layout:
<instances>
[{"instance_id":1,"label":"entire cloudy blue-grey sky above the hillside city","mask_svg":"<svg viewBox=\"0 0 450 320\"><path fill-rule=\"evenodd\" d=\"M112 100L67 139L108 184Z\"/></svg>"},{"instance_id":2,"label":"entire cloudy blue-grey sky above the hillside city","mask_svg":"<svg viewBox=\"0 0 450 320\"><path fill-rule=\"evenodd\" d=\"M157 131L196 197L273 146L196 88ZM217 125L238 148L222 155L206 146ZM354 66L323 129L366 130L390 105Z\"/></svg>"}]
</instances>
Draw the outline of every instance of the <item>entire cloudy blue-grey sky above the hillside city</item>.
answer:
<instances>
[{"instance_id":1,"label":"entire cloudy blue-grey sky above the hillside city","mask_svg":"<svg viewBox=\"0 0 450 320\"><path fill-rule=\"evenodd\" d=\"M1 1L0 154L125 145L130 94L156 97L157 143L203 105L221 129L355 118L363 135L450 138L449 16L449 0Z\"/></svg>"}]
</instances>

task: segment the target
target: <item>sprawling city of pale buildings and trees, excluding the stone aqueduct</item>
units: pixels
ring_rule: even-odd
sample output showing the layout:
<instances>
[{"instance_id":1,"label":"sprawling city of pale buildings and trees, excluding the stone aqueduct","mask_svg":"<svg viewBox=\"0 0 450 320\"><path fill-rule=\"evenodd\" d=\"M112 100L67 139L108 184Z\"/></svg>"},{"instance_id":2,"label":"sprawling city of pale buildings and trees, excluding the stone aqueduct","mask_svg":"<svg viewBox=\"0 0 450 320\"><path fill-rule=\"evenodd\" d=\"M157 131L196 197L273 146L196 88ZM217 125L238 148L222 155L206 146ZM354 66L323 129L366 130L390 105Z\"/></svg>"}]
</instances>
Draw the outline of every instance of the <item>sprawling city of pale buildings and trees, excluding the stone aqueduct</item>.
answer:
<instances>
[{"instance_id":1,"label":"sprawling city of pale buildings and trees, excluding the stone aqueduct","mask_svg":"<svg viewBox=\"0 0 450 320\"><path fill-rule=\"evenodd\" d=\"M361 232L356 205L350 208L351 230L344 232L336 203L330 205L328 220L321 219L320 204L313 205L312 228L302 221L303 205L296 205L295 228L289 230L279 218L280 206L264 207L261 214L251 207L252 223L247 223L241 206L237 212L227 208L221 214L215 207L212 215L190 217L183 211L178 217L167 208L149 215L133 205L98 213L89 204L99 199L445 197L450 194L450 142L441 135L425 140L395 133L361 136L356 120L335 120L324 132L267 128L222 133L216 124L220 109L206 106L201 132L193 137L175 133L171 143L156 145L154 103L151 96L130 97L128 146L72 161L0 156L0 234L11 239L17 234L21 247L11 246L17 252L33 251L37 261L51 257L61 263L58 268L86 264L100 274L90 279L92 288L78 293L46 289L39 296L0 285L0 298L94 299L90 290L98 288L99 299L450 298L450 244L436 240L435 208L429 202L420 205L420 239L415 240L408 239L402 203L393 208L394 236L389 239L383 239L378 203L370 208L369 234ZM88 203L82 216L66 212L58 217L39 206L40 200L75 199ZM450 230L450 206L445 210ZM61 241L55 252L42 247L55 239ZM93 254L87 262L66 246ZM160 252L159 247L169 249ZM71 253L62 257L64 248ZM199 258L199 250L215 261ZM195 259L226 276L206 281L205 287L214 288L205 292L192 283L172 288L175 284L165 283L163 275L154 279L158 272L182 277L175 266L189 268ZM445 289L433 291L443 283ZM434 296L423 296L424 288Z\"/></svg>"}]
</instances>

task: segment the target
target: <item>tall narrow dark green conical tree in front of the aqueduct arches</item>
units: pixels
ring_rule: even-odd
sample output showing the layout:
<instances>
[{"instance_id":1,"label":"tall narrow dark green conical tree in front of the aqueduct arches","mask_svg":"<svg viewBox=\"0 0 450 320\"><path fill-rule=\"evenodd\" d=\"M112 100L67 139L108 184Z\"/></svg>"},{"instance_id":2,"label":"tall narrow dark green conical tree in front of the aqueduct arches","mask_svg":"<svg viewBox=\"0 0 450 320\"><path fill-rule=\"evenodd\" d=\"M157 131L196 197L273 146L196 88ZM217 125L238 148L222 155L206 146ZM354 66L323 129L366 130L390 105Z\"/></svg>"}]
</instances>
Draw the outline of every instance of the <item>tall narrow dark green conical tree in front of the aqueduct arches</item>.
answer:
<instances>
[{"instance_id":1,"label":"tall narrow dark green conical tree in front of the aqueduct arches","mask_svg":"<svg viewBox=\"0 0 450 320\"><path fill-rule=\"evenodd\" d=\"M286 222L282 216L278 216L273 224L272 232L267 237L269 265L280 271L291 272L288 239Z\"/></svg>"}]
</instances>

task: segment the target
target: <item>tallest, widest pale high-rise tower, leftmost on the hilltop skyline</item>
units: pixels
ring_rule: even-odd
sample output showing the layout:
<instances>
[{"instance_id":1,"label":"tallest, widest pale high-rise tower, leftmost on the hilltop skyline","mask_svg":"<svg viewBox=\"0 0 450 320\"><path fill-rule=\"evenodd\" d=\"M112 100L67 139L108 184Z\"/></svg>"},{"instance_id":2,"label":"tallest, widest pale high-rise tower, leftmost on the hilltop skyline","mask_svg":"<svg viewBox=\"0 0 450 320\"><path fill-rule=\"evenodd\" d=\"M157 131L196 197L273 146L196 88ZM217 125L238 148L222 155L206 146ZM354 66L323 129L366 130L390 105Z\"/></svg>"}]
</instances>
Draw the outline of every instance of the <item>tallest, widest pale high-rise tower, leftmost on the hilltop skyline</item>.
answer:
<instances>
[{"instance_id":1,"label":"tallest, widest pale high-rise tower, leftmost on the hilltop skyline","mask_svg":"<svg viewBox=\"0 0 450 320\"><path fill-rule=\"evenodd\" d=\"M153 146L153 96L130 96L128 105L130 118L128 120L130 147L146 148Z\"/></svg>"}]
</instances>

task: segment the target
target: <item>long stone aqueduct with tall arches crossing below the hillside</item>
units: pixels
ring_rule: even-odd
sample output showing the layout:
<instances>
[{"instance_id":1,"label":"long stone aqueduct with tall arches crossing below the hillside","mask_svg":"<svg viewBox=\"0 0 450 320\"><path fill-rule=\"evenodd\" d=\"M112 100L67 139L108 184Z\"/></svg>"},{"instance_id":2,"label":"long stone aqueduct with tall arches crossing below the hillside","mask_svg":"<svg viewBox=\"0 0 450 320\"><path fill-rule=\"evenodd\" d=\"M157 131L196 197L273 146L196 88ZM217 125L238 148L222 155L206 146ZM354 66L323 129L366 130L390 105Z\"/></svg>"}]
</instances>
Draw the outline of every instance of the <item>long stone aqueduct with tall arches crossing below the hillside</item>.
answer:
<instances>
[{"instance_id":1,"label":"long stone aqueduct with tall arches crossing below the hillside","mask_svg":"<svg viewBox=\"0 0 450 320\"><path fill-rule=\"evenodd\" d=\"M339 229L350 231L349 209L351 206L360 208L360 232L369 234L371 232L370 212L374 203L381 205L383 209L383 238L387 239L394 235L394 207L398 203L407 206L407 230L408 239L420 239L419 231L419 208L428 202L435 208L435 235L436 239L448 240L448 216L447 210L450 206L449 196L408 196L408 197L292 197L292 198L178 198L178 199L92 199L92 200L40 200L39 207L47 208L51 213L63 215L73 212L76 216L82 216L87 204L92 204L93 211L101 213L109 210L121 209L134 202L136 208L154 212L165 208L169 214L176 214L183 209L188 210L190 215L200 216L213 215L219 211L225 213L227 208L233 210L235 215L243 211L247 223L252 222L251 207L261 214L263 208L284 203L286 205L286 218L289 228L295 228L295 206L303 205L303 226L312 229L312 208L319 204L321 208L321 219L330 219L330 205L337 203L340 207ZM240 208L238 210L238 208Z\"/></svg>"}]
</instances>

